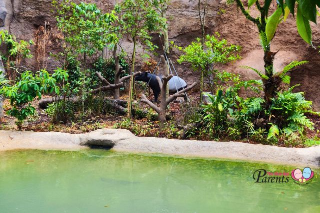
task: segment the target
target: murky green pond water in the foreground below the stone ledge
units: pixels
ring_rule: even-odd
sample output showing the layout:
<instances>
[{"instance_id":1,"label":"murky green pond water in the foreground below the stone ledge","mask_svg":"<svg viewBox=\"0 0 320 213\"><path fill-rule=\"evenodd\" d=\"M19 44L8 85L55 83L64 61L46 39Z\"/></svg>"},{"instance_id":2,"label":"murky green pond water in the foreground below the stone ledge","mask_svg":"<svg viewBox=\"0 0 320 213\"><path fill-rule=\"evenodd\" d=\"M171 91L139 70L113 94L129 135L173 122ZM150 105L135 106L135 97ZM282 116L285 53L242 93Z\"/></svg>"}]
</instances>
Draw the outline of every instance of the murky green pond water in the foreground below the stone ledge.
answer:
<instances>
[{"instance_id":1,"label":"murky green pond water in the foreground below the stone ledge","mask_svg":"<svg viewBox=\"0 0 320 213\"><path fill-rule=\"evenodd\" d=\"M257 169L294 168L107 150L0 152L0 213L320 213L318 170L300 186L254 183Z\"/></svg>"}]
</instances>

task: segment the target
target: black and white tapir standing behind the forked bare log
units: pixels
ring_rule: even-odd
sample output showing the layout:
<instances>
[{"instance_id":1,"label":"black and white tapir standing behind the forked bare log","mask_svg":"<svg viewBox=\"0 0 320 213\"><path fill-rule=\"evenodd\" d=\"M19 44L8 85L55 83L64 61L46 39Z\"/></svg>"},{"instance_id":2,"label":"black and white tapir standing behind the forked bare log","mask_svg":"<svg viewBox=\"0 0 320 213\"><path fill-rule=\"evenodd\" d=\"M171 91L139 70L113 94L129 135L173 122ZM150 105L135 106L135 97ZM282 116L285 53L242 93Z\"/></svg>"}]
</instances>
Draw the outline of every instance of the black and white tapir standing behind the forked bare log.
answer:
<instances>
[{"instance_id":1,"label":"black and white tapir standing behind the forked bare log","mask_svg":"<svg viewBox=\"0 0 320 213\"><path fill-rule=\"evenodd\" d=\"M151 74L148 72L142 72L140 75L136 75L134 77L134 80L136 80L136 81L143 81L143 82L146 82L149 84L149 86L151 87L151 89L153 91L154 102L158 101L158 97L159 97L159 94L161 91L157 78L159 78L161 81L163 81L161 76ZM179 78L177 76L173 76L168 81L168 87L169 87L169 94L172 95L172 94L176 93L176 90L180 91L183 88L186 88L187 84L185 83L185 81L182 78ZM184 96L184 100L186 100L186 96Z\"/></svg>"}]
</instances>

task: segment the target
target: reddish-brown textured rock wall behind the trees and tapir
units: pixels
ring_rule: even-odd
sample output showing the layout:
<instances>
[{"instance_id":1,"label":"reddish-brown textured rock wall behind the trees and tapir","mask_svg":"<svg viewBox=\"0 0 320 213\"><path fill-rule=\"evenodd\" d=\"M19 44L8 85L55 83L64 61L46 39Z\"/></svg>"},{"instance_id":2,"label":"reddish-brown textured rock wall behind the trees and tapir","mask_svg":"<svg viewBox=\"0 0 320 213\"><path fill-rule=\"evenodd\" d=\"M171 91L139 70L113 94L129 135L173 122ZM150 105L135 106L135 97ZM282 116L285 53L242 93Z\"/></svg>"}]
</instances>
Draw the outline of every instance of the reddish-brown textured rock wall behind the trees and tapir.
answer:
<instances>
[{"instance_id":1,"label":"reddish-brown textured rock wall behind the trees and tapir","mask_svg":"<svg viewBox=\"0 0 320 213\"><path fill-rule=\"evenodd\" d=\"M18 39L33 39L38 26L43 25L44 21L48 21L51 26L54 26L54 17L50 11L52 9L50 6L51 0L3 1L7 10L5 28L15 34ZM108 11L113 8L116 0L83 1L94 2L105 11ZM2 0L0 0L1 2ZM228 41L242 46L241 56L243 59L222 68L226 71L239 73L244 79L257 78L258 76L254 72L239 67L240 65L248 65L263 69L263 52L259 44L256 26L246 20L240 11L237 11L235 5L225 5L225 0L208 0L207 2L206 33L217 31ZM187 45L200 35L197 0L171 0L167 19L169 39L176 40L177 45ZM312 30L314 46L319 46L320 26L312 24ZM159 47L161 46L158 35L154 35L153 42ZM131 42L124 41L122 47L130 51L132 49ZM309 61L308 64L297 68L291 74L291 84L301 83L302 86L298 89L305 91L306 98L312 100L315 108L320 110L320 96L315 92L320 86L320 75L318 74L320 71L318 66L320 54L298 36L292 15L290 15L287 22L280 23L276 36L272 40L271 50L279 50L274 61L276 70L280 70L291 60ZM53 49L52 51L56 50ZM142 53L142 49L138 48L138 52ZM160 49L157 53L161 53ZM172 62L175 63L178 52L172 51L170 57ZM155 60L158 59L155 57ZM30 68L35 67L35 59L26 60L25 65ZM175 66L179 76L186 80L187 83L198 79L198 74L192 72L185 65L175 63ZM55 62L49 61L48 69L54 69L55 67Z\"/></svg>"}]
</instances>

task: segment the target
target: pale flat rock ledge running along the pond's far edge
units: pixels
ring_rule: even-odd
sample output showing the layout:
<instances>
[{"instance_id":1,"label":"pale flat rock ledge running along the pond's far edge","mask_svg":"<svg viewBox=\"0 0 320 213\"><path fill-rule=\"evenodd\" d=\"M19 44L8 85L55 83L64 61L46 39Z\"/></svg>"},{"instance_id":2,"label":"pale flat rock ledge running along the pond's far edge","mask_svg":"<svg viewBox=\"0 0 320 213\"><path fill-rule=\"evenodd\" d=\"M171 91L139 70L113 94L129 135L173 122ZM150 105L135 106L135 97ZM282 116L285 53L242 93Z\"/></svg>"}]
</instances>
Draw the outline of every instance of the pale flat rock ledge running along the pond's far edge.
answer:
<instances>
[{"instance_id":1,"label":"pale flat rock ledge running along the pond's far edge","mask_svg":"<svg viewBox=\"0 0 320 213\"><path fill-rule=\"evenodd\" d=\"M157 153L200 158L222 158L320 168L320 146L284 148L240 142L208 142L136 137L128 130L99 129L86 134L0 131L0 151L16 149L80 150L109 146L130 153Z\"/></svg>"}]
</instances>

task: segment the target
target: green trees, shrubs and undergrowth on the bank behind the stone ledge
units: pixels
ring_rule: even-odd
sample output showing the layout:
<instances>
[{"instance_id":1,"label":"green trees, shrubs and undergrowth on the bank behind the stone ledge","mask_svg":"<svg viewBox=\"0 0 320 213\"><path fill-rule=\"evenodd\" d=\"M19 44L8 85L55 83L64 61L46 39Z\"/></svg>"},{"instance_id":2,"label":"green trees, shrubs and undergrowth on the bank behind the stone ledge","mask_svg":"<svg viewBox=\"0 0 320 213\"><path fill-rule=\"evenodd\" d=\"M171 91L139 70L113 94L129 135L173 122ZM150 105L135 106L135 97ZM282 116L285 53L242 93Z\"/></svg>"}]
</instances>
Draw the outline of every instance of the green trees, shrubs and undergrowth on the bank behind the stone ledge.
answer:
<instances>
[{"instance_id":1,"label":"green trees, shrubs and undergrowth on the bank behind the stone ledge","mask_svg":"<svg viewBox=\"0 0 320 213\"><path fill-rule=\"evenodd\" d=\"M103 122L108 120L113 128L128 129L138 136L235 140L280 146L320 145L318 131L313 137L307 135L308 131L314 130L310 115L318 116L319 113L312 110L312 102L305 100L304 92L296 90L299 85L290 84L288 75L302 69L307 61L292 61L275 70L273 60L277 52L272 52L270 45L278 24L290 12L294 14L294 5L297 6L298 32L312 45L311 29L308 27L309 20L314 21L315 3L310 13L306 11L308 8L300 6L301 0L285 1L293 2L293 7L283 0L274 1L277 9L268 14L270 0L265 1L263 6L261 1L251 0L248 7L255 3L256 14L259 14L255 18L244 8L241 0L227 2L236 3L245 17L258 28L264 52L261 58L264 70L242 66L256 72L258 80L244 81L240 75L221 69L241 59L241 47L229 43L218 32L205 35L201 19L201 38L195 38L184 47L174 45L173 41L171 43L177 62L199 72L199 79L196 79L200 82L199 91L188 96L182 94L185 101L179 99L181 104L173 102L181 96L173 95L171 98L163 93L160 95L161 103L142 101L155 110L146 108L147 105L139 101L138 95L143 93L148 98L151 95L144 94L146 83L134 83L134 76L140 74L135 72L135 60L142 58L139 63L143 64L141 71L156 71L157 77L162 78L162 81L155 80L159 88L166 85L168 77L172 77L161 76L169 70L163 68L164 65L161 70L162 65L157 63L155 53L158 47L153 43L153 33L160 33L165 42L164 51L170 52L167 35L169 22L165 19L169 2L122 0L113 10L104 12L92 3L53 0L56 27L48 27L48 23L44 22L36 32L35 42L17 41L8 31L0 31L0 44L5 44L0 55L0 64L2 60L4 62L0 70L0 121L4 108L8 116L16 118L18 129L22 129L24 121L32 123L41 117L34 102L43 95L49 95L51 101L45 109L47 120L42 122L50 120L45 126L48 131L58 127L92 131L106 127L106 122ZM220 9L219 13L226 11ZM122 41L127 38L132 41L131 52L122 49ZM35 46L31 48L33 44ZM59 51L50 53L49 45L56 46ZM141 57L136 57L137 47L143 50ZM32 57L31 49L35 49L38 70L30 71L21 66L21 61ZM47 66L49 59L58 67L52 69L52 66ZM171 59L167 59L167 63L169 61ZM176 71L174 67L172 69ZM129 97L129 100L118 100L120 92L122 99ZM9 104L2 107L5 98L9 99ZM133 98L136 100L132 101ZM167 109L162 103L168 99ZM160 108L162 106L161 110L157 110L160 109L158 104ZM162 118L165 123L159 124L155 121L157 118Z\"/></svg>"}]
</instances>

